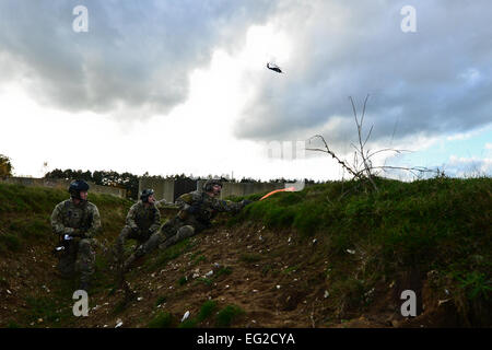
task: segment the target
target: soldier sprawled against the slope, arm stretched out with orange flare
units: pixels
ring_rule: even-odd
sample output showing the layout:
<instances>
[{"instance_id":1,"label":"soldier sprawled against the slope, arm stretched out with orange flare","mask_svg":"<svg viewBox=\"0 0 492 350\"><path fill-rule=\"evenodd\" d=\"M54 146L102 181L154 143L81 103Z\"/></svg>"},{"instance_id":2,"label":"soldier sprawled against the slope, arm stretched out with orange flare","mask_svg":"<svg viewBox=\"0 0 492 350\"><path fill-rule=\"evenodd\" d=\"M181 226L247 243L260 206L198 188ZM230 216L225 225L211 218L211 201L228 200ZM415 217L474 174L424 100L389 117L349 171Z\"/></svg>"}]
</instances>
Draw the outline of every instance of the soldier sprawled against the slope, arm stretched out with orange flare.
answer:
<instances>
[{"instance_id":1,"label":"soldier sprawled against the slope, arm stretched out with orange flare","mask_svg":"<svg viewBox=\"0 0 492 350\"><path fill-rule=\"evenodd\" d=\"M177 215L164 223L161 230L154 233L148 242L125 261L122 273L127 271L134 260L143 257L155 248L164 249L179 241L190 237L200 231L211 226L211 220L218 212L238 212L249 200L233 202L221 200L222 183L219 179L209 179L203 185L203 191L192 191L176 199L179 207Z\"/></svg>"}]
</instances>

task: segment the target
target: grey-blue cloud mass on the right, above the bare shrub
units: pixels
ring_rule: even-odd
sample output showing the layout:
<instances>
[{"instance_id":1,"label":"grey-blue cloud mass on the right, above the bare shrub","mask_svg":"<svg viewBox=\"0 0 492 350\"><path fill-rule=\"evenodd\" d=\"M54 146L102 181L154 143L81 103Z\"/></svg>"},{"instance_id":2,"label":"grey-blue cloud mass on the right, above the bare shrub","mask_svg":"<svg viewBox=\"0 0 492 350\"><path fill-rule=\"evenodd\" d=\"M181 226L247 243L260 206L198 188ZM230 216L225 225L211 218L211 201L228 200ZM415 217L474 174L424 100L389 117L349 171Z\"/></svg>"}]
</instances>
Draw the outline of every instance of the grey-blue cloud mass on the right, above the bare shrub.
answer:
<instances>
[{"instance_id":1,"label":"grey-blue cloud mass on the right, above the bare shrub","mask_svg":"<svg viewBox=\"0 0 492 350\"><path fill-rule=\"evenodd\" d=\"M417 10L417 33L400 28L400 10ZM320 1L280 14L294 49L284 75L267 69L236 136L353 139L348 96L359 112L367 94L372 140L466 131L492 120L492 12L489 1ZM280 23L282 19L279 20ZM341 118L342 122L330 126Z\"/></svg>"}]
</instances>

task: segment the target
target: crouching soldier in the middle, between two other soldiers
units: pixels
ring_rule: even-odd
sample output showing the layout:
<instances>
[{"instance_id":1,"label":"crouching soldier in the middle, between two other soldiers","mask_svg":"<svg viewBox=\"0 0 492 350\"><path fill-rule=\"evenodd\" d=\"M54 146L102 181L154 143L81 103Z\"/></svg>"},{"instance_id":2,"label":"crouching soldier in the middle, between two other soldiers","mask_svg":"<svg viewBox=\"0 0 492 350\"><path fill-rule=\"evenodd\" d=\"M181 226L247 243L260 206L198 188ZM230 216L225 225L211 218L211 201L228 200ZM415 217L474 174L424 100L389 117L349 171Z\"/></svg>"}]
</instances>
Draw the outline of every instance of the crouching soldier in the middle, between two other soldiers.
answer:
<instances>
[{"instance_id":1,"label":"crouching soldier in the middle, between two other soldiers","mask_svg":"<svg viewBox=\"0 0 492 350\"><path fill-rule=\"evenodd\" d=\"M140 200L131 206L127 214L127 224L116 242L116 255L122 261L127 240L136 240L139 245L145 243L161 228L161 213L155 206L154 190L144 189Z\"/></svg>"}]
</instances>

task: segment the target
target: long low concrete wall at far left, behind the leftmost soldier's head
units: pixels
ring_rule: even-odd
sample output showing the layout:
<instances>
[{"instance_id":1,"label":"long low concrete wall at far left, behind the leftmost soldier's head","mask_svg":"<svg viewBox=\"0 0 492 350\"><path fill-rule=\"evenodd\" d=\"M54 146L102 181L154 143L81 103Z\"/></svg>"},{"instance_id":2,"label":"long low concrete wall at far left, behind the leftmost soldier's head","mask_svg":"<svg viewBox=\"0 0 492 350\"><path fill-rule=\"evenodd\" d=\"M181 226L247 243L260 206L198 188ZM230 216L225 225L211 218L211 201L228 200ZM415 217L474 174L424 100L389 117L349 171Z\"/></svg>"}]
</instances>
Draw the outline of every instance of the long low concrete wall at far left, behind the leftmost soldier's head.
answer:
<instances>
[{"instance_id":1,"label":"long low concrete wall at far left, behind the leftmost soldier's head","mask_svg":"<svg viewBox=\"0 0 492 350\"><path fill-rule=\"evenodd\" d=\"M0 179L0 182L3 182L5 184L36 186L36 187L51 187L68 190L70 183L72 180L61 178L8 177L5 179ZM120 198L126 198L127 196L127 190L125 188L101 186L90 182L87 182L87 184L89 186L91 186L89 189L90 192L92 191L96 194L113 195Z\"/></svg>"}]
</instances>

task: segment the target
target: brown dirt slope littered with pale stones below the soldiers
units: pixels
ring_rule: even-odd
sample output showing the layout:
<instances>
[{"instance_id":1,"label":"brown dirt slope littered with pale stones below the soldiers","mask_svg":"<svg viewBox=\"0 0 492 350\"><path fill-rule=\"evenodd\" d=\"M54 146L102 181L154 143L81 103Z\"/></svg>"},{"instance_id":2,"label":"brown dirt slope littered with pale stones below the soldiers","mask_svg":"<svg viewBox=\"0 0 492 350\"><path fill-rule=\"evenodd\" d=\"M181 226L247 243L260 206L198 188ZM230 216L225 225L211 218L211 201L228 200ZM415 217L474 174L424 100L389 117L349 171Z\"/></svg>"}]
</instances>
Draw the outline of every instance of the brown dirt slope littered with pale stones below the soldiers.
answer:
<instances>
[{"instance_id":1,"label":"brown dirt slope littered with pale stones below the soldiers","mask_svg":"<svg viewBox=\"0 0 492 350\"><path fill-rule=\"evenodd\" d=\"M196 317L210 300L216 302L215 314L226 305L245 311L233 319L233 327L412 326L399 315L395 293L386 284L375 292L379 301L373 308L336 315L326 293L329 258L323 254L324 242L313 241L253 225L219 224L179 244L175 258L167 260L157 252L136 267L128 281L138 299L126 304L124 292L114 290L114 270L99 252L98 285L90 293L87 317L71 315L77 281L59 279L56 259L46 254L50 246L38 246L0 262L9 281L2 285L1 326L115 327L122 322L122 327L147 327L160 312L171 313L173 326L178 326L187 311L189 318ZM215 325L212 315L196 326ZM422 325L440 326L432 317Z\"/></svg>"}]
</instances>

